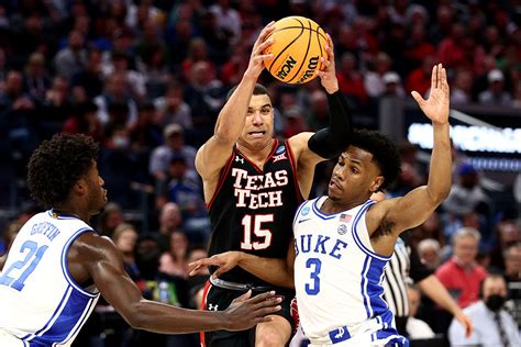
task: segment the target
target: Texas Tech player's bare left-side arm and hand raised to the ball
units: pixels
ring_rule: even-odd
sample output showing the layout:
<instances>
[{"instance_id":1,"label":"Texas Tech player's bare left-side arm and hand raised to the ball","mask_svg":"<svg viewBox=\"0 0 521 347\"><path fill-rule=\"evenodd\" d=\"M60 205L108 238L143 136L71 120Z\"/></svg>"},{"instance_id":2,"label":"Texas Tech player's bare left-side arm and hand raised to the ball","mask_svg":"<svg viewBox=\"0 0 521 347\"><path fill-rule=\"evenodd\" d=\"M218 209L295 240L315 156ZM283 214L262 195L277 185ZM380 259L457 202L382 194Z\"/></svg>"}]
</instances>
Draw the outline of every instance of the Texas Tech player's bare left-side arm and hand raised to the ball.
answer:
<instances>
[{"instance_id":1,"label":"Texas Tech player's bare left-side arm and hand raised to the ball","mask_svg":"<svg viewBox=\"0 0 521 347\"><path fill-rule=\"evenodd\" d=\"M264 69L264 59L270 56L263 54L264 49L273 44L273 38L266 40L266 37L274 30L271 22L260 32L253 46L243 79L219 113L213 136L197 153L196 168L203 180L219 175L241 135L255 83Z\"/></svg>"}]
</instances>

